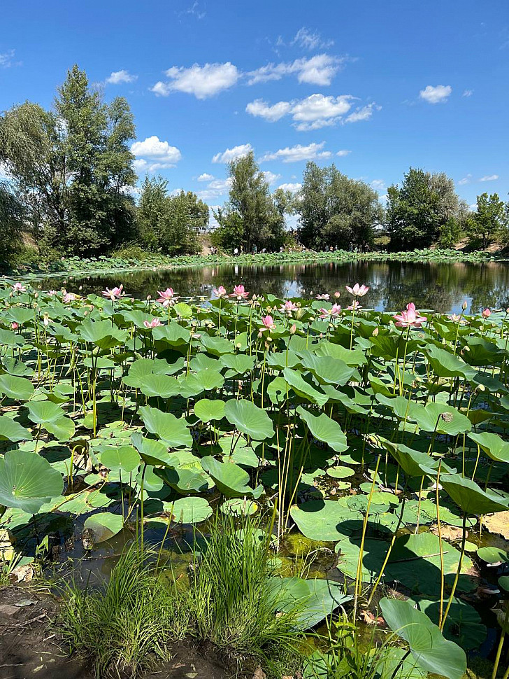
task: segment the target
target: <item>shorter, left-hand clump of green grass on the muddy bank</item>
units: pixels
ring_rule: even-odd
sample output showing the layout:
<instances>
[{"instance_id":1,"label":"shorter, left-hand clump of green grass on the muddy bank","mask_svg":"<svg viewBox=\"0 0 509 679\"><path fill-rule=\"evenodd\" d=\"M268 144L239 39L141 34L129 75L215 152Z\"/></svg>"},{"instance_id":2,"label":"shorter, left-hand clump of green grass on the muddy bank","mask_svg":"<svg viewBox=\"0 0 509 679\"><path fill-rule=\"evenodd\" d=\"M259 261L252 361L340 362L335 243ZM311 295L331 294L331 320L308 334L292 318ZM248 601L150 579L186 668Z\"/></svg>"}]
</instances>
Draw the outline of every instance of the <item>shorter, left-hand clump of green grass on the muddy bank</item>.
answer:
<instances>
[{"instance_id":1,"label":"shorter, left-hand clump of green grass on the muddy bank","mask_svg":"<svg viewBox=\"0 0 509 679\"><path fill-rule=\"evenodd\" d=\"M157 659L168 659L168 643L185 636L189 611L181 600L182 594L158 577L153 554L133 545L105 589L66 586L62 634L97 678L135 676Z\"/></svg>"}]
</instances>

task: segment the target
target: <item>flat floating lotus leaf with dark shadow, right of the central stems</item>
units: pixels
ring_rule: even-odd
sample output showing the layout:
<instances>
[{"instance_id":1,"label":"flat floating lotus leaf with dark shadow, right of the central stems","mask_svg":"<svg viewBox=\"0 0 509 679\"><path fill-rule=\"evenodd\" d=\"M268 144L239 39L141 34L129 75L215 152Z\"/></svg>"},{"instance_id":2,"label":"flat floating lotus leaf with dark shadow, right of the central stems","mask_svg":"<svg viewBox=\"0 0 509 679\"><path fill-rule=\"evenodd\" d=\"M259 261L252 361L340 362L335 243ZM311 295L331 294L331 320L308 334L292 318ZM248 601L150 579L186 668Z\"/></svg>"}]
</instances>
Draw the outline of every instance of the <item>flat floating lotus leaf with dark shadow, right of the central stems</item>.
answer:
<instances>
[{"instance_id":1,"label":"flat floating lotus leaf with dark shadow, right of the central stems","mask_svg":"<svg viewBox=\"0 0 509 679\"><path fill-rule=\"evenodd\" d=\"M306 538L335 542L344 535L340 524L350 519L352 512L337 500L309 500L291 507L290 516Z\"/></svg>"}]
</instances>

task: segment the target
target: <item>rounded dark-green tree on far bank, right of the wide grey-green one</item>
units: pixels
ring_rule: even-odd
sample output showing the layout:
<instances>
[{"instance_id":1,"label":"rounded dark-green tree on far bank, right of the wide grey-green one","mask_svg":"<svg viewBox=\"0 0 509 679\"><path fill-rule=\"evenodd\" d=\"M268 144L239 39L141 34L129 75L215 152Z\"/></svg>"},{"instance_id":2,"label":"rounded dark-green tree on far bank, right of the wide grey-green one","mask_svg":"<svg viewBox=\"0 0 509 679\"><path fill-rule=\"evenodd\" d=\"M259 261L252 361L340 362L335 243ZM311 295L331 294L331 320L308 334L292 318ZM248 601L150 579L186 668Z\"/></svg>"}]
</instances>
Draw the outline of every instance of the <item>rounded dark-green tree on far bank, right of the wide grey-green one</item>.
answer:
<instances>
[{"instance_id":1,"label":"rounded dark-green tree on far bank, right of the wide grey-green one","mask_svg":"<svg viewBox=\"0 0 509 679\"><path fill-rule=\"evenodd\" d=\"M386 228L392 250L429 247L438 240L441 230L445 233L450 218L461 223L466 214L454 182L443 172L430 174L410 167L401 187L389 186L387 196ZM450 241L452 236L449 229L445 240Z\"/></svg>"}]
</instances>

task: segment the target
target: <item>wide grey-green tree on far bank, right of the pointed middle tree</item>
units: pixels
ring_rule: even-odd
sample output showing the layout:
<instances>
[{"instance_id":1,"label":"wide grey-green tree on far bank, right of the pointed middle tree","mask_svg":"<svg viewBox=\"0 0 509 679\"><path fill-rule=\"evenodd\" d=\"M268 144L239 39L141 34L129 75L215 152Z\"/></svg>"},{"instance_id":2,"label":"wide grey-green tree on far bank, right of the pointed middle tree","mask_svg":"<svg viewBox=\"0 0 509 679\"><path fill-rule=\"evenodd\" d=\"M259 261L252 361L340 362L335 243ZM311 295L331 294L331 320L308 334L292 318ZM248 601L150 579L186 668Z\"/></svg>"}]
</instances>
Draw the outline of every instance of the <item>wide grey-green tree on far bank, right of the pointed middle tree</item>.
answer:
<instances>
[{"instance_id":1,"label":"wide grey-green tree on far bank, right of the pointed middle tree","mask_svg":"<svg viewBox=\"0 0 509 679\"><path fill-rule=\"evenodd\" d=\"M366 249L373 243L383 209L378 193L363 181L349 179L334 165L308 162L297 199L299 238L316 250L338 246Z\"/></svg>"}]
</instances>

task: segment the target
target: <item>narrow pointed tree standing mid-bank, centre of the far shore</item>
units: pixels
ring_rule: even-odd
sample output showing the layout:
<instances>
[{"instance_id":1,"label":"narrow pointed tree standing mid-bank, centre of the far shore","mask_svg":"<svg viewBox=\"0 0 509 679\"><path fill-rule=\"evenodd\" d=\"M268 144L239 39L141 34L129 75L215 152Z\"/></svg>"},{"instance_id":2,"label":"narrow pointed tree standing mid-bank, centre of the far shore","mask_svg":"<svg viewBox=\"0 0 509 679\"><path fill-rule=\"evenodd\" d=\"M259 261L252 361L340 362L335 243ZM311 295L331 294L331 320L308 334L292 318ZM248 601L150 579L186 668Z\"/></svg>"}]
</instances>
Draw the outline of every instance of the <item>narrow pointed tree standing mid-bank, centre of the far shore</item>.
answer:
<instances>
[{"instance_id":1,"label":"narrow pointed tree standing mid-bank, centre of the far shore","mask_svg":"<svg viewBox=\"0 0 509 679\"><path fill-rule=\"evenodd\" d=\"M229 251L241 246L248 252L253 246L278 248L285 241L286 204L271 195L253 153L233 160L229 176L229 200L215 213L219 226L213 235L214 243Z\"/></svg>"}]
</instances>

